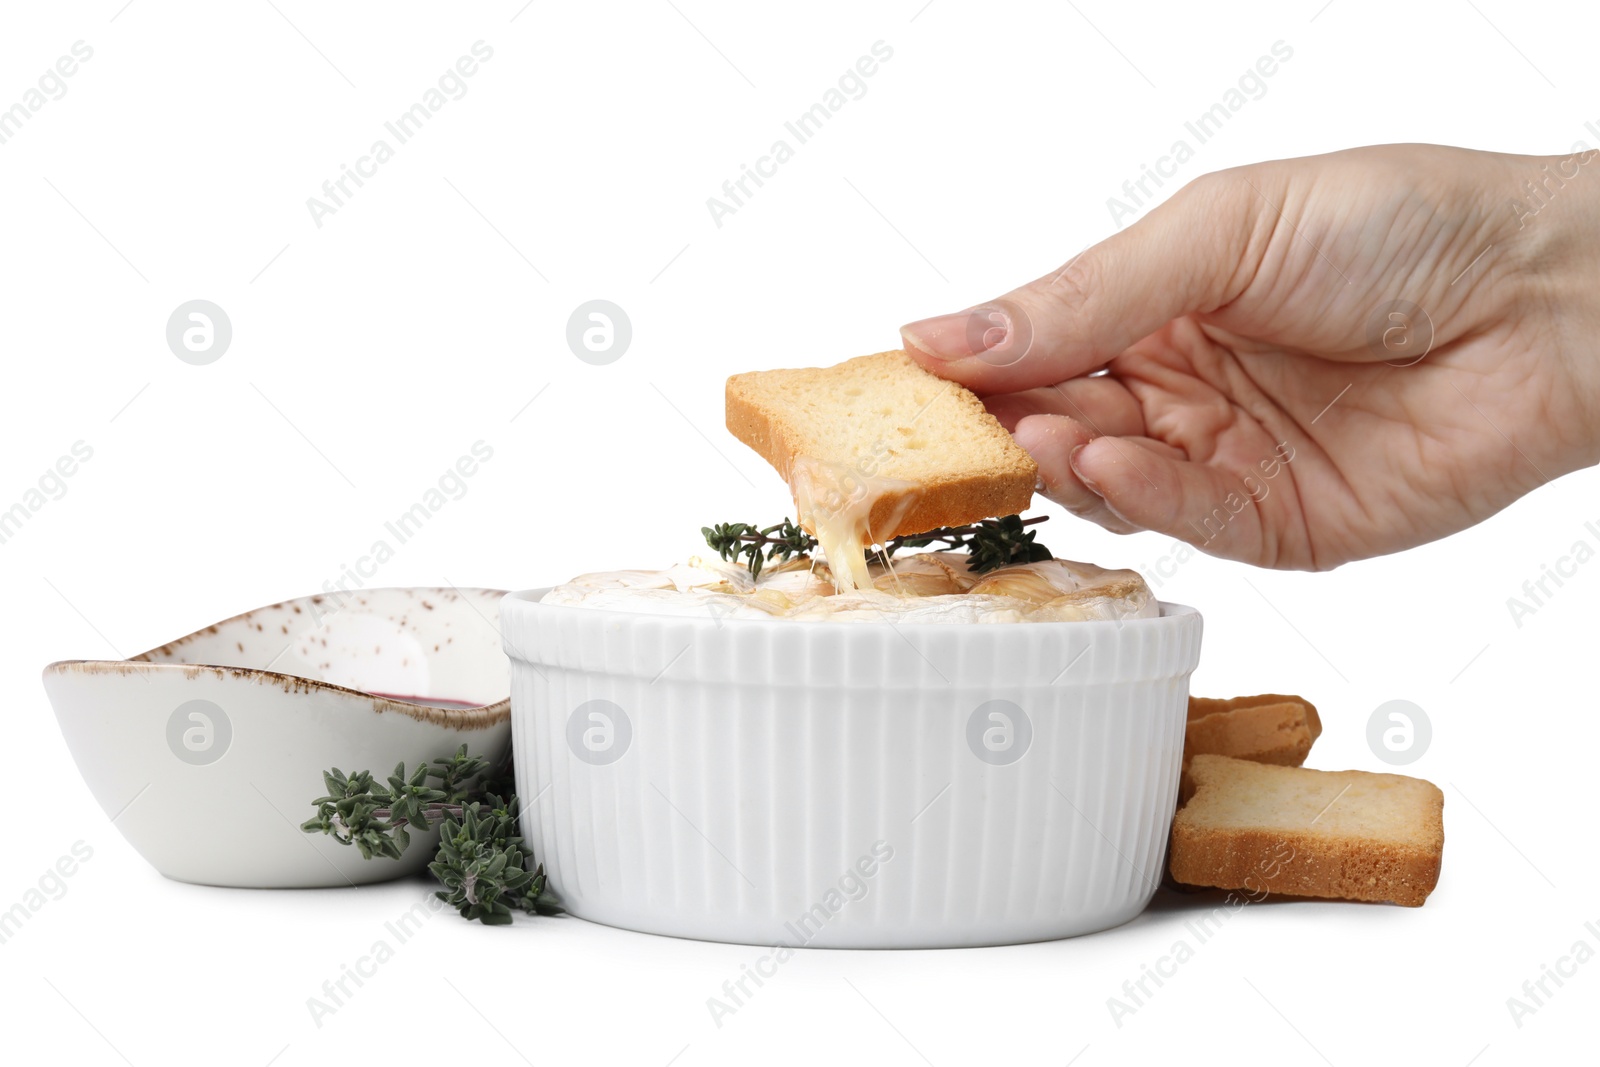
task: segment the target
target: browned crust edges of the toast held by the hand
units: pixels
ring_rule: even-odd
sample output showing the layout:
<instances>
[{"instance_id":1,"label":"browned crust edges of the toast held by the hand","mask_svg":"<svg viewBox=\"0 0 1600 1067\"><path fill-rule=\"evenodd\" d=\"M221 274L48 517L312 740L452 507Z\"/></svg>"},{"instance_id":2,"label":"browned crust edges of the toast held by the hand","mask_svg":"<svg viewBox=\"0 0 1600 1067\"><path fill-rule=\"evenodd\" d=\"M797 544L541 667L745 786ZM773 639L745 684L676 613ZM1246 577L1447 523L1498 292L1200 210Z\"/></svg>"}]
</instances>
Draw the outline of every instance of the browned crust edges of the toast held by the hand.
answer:
<instances>
[{"instance_id":1,"label":"browned crust edges of the toast held by the hand","mask_svg":"<svg viewBox=\"0 0 1600 1067\"><path fill-rule=\"evenodd\" d=\"M862 358L899 357L907 365L910 357L904 352L878 352ZM818 373L826 373L822 368ZM926 374L922 368L917 373ZM794 485L792 472L795 459L802 454L805 430L786 414L779 406L762 403L747 387L762 371L752 374L734 374L726 386L726 421L728 430L741 442L755 450L779 475ZM955 382L941 381L941 389L963 406L968 406L974 418L987 419L998 434L1006 434L982 402L970 390ZM941 394L941 398L946 394ZM1006 438L1010 435L1006 434ZM1029 507L1034 499L1034 483L1038 467L1034 459L1016 445L1006 453L1008 461L1002 467L976 474L944 475L922 482L914 490L885 488L883 494L874 501L869 514L869 530L878 542L898 536L918 534L939 526L962 526L981 518L995 515L1013 515ZM814 531L813 531L814 533Z\"/></svg>"}]
</instances>

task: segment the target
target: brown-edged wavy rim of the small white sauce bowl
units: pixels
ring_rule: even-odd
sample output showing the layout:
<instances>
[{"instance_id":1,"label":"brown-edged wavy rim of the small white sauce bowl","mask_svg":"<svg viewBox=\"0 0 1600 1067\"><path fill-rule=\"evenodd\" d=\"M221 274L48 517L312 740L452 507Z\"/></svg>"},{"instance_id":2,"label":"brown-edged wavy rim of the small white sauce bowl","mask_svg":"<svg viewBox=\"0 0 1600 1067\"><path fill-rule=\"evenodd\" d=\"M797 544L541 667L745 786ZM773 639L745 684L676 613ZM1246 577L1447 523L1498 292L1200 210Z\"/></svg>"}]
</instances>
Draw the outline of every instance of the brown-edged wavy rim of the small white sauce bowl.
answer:
<instances>
[{"instance_id":1,"label":"brown-edged wavy rim of the small white sauce bowl","mask_svg":"<svg viewBox=\"0 0 1600 1067\"><path fill-rule=\"evenodd\" d=\"M389 592L413 592L413 593L437 593L437 595L454 595L466 597L470 593L482 593L483 597L498 600L506 597L506 590L501 589L478 589L478 587L435 587L435 585L384 585L379 589L363 589L360 593L389 593ZM376 693L366 693L362 689L352 689L350 686L338 685L334 681L320 681L317 678L306 678L302 675L291 675L282 670L267 670L264 667L232 667L226 664L158 664L149 657L174 649L186 641L192 641L203 633L213 633L218 629L227 625L229 622L238 622L240 619L248 619L258 611L270 611L274 608L285 608L293 603L310 601L322 603L328 597L325 593L312 593L309 597L290 597L288 600L278 600L275 603L261 605L259 608L251 608L250 611L240 611L226 619L203 625L198 630L184 633L179 638L166 641L165 645L157 645L149 651L142 651L138 656L128 659L58 659L45 667L45 675L58 673L118 673L118 675L144 675L144 673L181 673L186 678L197 678L202 675L211 675L214 678L240 678L246 681L254 681L256 685L275 685L285 693L330 693L342 699L354 699L365 702L373 712L400 712L410 718L424 723L434 723L437 726L451 726L456 729L482 729L488 726L498 726L510 720L510 681L507 680L507 694L493 704L478 704L474 707L435 707L432 704L421 704L416 701L402 701L392 696L379 696Z\"/></svg>"}]
</instances>

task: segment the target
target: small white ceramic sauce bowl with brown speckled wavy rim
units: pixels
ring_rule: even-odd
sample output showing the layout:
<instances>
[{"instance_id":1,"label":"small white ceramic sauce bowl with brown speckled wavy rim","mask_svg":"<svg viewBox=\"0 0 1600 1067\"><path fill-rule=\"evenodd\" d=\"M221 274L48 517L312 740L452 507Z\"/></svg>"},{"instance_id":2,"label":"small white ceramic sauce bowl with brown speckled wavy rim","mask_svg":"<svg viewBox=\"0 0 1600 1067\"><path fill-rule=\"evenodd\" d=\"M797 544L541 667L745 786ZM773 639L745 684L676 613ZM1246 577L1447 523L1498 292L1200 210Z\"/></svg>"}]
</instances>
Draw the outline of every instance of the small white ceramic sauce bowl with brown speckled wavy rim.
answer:
<instances>
[{"instance_id":1,"label":"small white ceramic sauce bowl with brown speckled wavy rim","mask_svg":"<svg viewBox=\"0 0 1600 1067\"><path fill-rule=\"evenodd\" d=\"M322 773L451 755L506 757L509 667L488 589L371 589L246 611L126 661L45 669L90 790L168 878L309 888L421 870L437 827L398 859L299 825Z\"/></svg>"}]
</instances>

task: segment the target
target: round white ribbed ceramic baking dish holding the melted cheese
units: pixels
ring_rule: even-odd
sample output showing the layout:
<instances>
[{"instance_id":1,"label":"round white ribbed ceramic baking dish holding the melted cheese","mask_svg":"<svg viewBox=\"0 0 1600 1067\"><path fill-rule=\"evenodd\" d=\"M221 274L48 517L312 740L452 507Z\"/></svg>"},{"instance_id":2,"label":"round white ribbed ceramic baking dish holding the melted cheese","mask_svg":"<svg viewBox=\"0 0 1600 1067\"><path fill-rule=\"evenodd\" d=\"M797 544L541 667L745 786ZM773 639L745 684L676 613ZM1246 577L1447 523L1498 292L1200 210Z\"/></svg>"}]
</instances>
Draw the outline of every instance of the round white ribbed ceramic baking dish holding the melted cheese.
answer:
<instances>
[{"instance_id":1,"label":"round white ribbed ceramic baking dish holding the melted cheese","mask_svg":"<svg viewBox=\"0 0 1600 1067\"><path fill-rule=\"evenodd\" d=\"M1160 880L1200 614L858 624L501 603L523 833L563 907L755 945L1123 923Z\"/></svg>"}]
</instances>

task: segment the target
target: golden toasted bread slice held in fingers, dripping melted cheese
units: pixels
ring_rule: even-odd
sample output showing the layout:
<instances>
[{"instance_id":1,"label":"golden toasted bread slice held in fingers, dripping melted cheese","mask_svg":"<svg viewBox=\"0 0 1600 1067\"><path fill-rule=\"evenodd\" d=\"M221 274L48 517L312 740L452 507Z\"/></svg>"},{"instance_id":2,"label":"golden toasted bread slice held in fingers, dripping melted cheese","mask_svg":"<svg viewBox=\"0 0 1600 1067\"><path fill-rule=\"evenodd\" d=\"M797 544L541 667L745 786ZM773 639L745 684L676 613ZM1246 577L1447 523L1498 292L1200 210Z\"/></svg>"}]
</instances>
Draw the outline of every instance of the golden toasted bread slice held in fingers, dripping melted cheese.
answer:
<instances>
[{"instance_id":1,"label":"golden toasted bread slice held in fingers, dripping melted cheese","mask_svg":"<svg viewBox=\"0 0 1600 1067\"><path fill-rule=\"evenodd\" d=\"M1011 515L1034 499L1038 469L1000 421L970 390L899 350L734 374L728 429L790 488L805 458L829 470L826 494L867 496L866 528L880 544ZM816 533L798 491L795 502L800 523Z\"/></svg>"}]
</instances>

